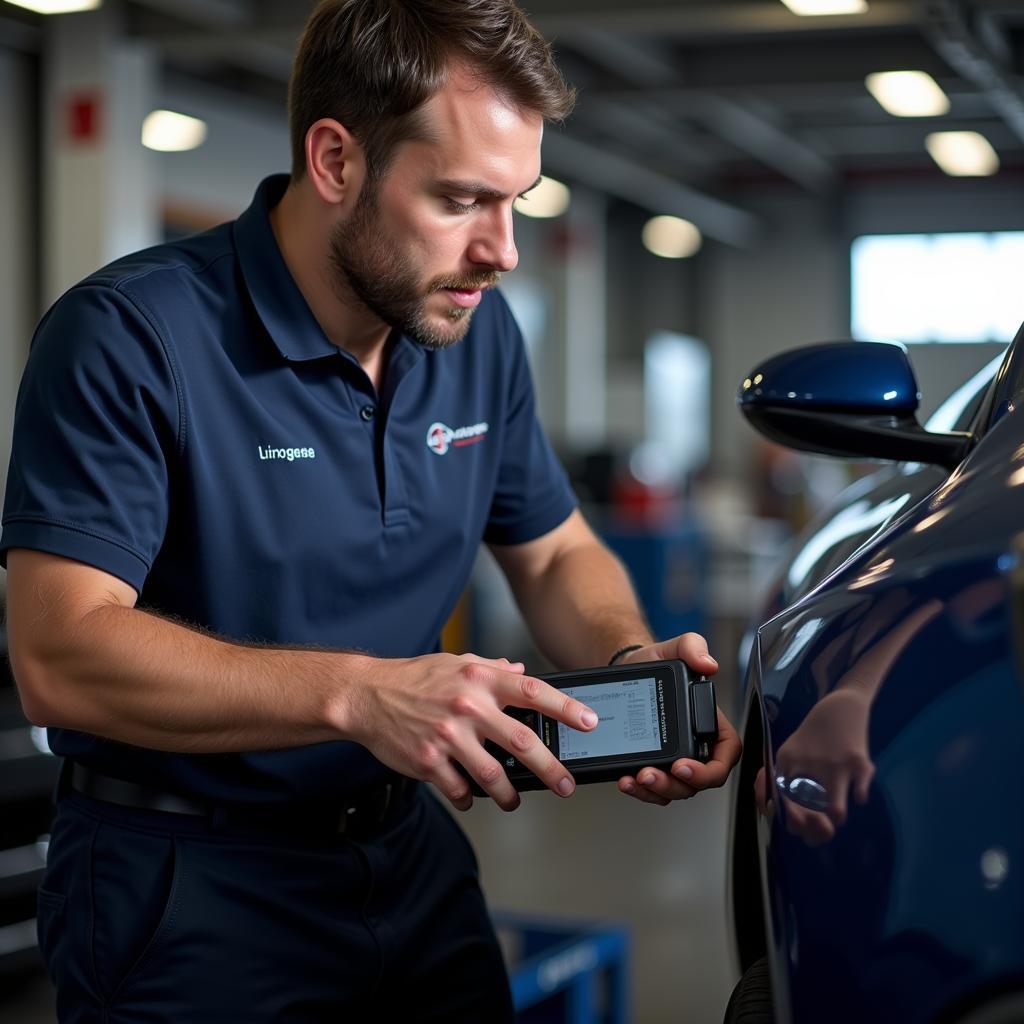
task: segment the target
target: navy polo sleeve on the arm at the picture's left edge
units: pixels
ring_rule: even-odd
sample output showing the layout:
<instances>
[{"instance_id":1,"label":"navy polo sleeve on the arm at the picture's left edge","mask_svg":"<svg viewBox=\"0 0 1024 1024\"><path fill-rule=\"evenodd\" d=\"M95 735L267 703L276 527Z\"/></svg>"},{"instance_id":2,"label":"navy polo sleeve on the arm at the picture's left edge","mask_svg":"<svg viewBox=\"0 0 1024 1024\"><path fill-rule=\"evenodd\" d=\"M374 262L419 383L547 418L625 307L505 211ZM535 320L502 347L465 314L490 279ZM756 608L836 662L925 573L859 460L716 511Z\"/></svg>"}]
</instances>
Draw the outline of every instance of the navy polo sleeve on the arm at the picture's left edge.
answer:
<instances>
[{"instance_id":1,"label":"navy polo sleeve on the arm at the picture's left edge","mask_svg":"<svg viewBox=\"0 0 1024 1024\"><path fill-rule=\"evenodd\" d=\"M67 293L33 339L18 390L0 560L32 548L137 591L163 543L181 433L162 340L115 287Z\"/></svg>"}]
</instances>

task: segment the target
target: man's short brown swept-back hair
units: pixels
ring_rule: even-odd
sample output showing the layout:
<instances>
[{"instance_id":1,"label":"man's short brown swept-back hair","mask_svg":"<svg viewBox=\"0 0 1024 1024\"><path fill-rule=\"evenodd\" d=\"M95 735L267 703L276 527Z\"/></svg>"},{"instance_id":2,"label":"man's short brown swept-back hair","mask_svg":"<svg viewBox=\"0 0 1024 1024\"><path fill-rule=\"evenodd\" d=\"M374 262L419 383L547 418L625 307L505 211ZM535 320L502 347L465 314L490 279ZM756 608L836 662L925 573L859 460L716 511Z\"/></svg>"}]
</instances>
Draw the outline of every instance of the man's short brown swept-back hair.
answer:
<instances>
[{"instance_id":1,"label":"man's short brown swept-back hair","mask_svg":"<svg viewBox=\"0 0 1024 1024\"><path fill-rule=\"evenodd\" d=\"M370 176L383 177L395 145L421 133L420 106L460 62L546 120L572 109L551 47L512 0L323 0L292 68L293 178L305 174L306 132L321 118L343 124Z\"/></svg>"}]
</instances>

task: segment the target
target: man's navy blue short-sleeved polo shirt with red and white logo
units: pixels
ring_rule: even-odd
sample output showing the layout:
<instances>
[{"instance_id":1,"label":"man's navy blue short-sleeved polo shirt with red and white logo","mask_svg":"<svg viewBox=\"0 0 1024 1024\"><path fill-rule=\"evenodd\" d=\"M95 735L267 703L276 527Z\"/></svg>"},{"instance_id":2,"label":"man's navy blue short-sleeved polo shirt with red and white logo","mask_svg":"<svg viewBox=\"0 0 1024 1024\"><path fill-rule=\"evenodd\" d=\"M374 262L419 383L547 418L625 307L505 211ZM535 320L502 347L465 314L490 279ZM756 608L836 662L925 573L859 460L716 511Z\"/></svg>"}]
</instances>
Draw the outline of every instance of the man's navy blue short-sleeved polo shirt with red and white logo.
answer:
<instances>
[{"instance_id":1,"label":"man's navy blue short-sleeved polo shirt with red and white logo","mask_svg":"<svg viewBox=\"0 0 1024 1024\"><path fill-rule=\"evenodd\" d=\"M397 338L378 394L278 249L268 211L287 182L264 181L233 223L112 263L46 314L0 558L85 562L140 607L245 643L435 651L480 542L538 538L574 499L503 298L486 293L451 348ZM50 743L224 801L322 797L385 770L341 741L194 756L51 729Z\"/></svg>"}]
</instances>

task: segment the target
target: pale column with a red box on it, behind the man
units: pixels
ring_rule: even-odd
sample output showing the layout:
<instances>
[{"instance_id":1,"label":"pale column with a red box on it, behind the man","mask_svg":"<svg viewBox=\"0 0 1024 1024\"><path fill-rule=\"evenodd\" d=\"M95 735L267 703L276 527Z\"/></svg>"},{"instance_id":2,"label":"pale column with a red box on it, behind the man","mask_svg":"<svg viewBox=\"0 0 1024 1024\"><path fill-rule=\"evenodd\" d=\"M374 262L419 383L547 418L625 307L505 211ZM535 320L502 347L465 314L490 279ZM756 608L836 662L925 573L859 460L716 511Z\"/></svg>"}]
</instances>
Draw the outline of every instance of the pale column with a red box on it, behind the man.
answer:
<instances>
[{"instance_id":1,"label":"pale column with a red box on it, behind the man","mask_svg":"<svg viewBox=\"0 0 1024 1024\"><path fill-rule=\"evenodd\" d=\"M47 20L43 298L160 240L159 167L140 141L156 59L113 4Z\"/></svg>"}]
</instances>

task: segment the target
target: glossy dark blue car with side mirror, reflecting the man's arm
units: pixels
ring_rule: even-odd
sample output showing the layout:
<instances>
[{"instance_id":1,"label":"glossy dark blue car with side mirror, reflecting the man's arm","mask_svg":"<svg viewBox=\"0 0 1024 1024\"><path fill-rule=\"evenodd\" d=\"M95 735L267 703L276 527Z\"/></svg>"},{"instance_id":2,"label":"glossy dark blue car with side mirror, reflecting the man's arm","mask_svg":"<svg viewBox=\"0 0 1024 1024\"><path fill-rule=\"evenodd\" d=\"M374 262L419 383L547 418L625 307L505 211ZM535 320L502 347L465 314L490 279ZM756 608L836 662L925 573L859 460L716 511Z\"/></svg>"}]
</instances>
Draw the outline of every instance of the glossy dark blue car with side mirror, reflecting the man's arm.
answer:
<instances>
[{"instance_id":1,"label":"glossy dark blue car with side mirror, reflecting the man's arm","mask_svg":"<svg viewBox=\"0 0 1024 1024\"><path fill-rule=\"evenodd\" d=\"M905 350L775 356L769 438L894 465L801 536L756 630L731 1024L1024 1021L1024 328L929 421Z\"/></svg>"}]
</instances>

